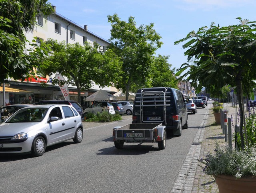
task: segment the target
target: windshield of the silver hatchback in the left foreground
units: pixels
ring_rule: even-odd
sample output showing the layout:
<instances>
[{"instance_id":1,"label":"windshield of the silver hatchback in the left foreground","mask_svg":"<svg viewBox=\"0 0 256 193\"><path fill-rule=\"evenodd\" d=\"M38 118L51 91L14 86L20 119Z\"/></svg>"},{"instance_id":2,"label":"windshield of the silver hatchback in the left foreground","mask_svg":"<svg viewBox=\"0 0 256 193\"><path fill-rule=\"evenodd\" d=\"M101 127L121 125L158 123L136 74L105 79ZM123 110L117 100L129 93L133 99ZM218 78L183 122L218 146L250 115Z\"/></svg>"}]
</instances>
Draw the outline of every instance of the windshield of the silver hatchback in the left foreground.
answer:
<instances>
[{"instance_id":1,"label":"windshield of the silver hatchback in the left foreground","mask_svg":"<svg viewBox=\"0 0 256 193\"><path fill-rule=\"evenodd\" d=\"M10 117L6 123L22 123L22 122L41 122L48 108L22 108L16 114Z\"/></svg>"}]
</instances>

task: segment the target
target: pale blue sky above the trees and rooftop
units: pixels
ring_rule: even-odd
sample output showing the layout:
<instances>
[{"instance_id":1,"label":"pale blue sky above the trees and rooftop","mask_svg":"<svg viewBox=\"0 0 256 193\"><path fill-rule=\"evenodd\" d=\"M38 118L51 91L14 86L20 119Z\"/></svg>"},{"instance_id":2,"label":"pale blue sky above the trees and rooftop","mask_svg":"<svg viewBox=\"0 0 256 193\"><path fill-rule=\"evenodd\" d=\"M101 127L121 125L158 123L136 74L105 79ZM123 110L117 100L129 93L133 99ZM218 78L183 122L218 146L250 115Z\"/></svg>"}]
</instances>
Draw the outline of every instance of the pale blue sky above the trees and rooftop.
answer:
<instances>
[{"instance_id":1,"label":"pale blue sky above the trees and rooftop","mask_svg":"<svg viewBox=\"0 0 256 193\"><path fill-rule=\"evenodd\" d=\"M256 0L49 0L56 12L87 25L88 30L108 40L111 24L108 15L118 14L120 20L134 17L137 26L154 23L164 43L156 52L169 55L168 63L179 68L186 62L182 44L174 42L192 30L210 26L239 24L237 17L256 21Z\"/></svg>"}]
</instances>

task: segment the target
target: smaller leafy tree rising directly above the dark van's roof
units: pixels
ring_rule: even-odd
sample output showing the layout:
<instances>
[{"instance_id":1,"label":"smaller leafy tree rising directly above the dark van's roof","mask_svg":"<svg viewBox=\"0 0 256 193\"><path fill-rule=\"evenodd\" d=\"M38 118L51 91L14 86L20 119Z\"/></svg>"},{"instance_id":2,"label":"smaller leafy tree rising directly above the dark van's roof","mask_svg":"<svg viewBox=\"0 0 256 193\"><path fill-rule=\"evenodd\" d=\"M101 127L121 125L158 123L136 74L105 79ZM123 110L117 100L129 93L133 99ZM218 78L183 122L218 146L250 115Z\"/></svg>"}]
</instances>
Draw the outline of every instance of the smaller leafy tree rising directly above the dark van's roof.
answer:
<instances>
[{"instance_id":1,"label":"smaller leafy tree rising directly above the dark van's roof","mask_svg":"<svg viewBox=\"0 0 256 193\"><path fill-rule=\"evenodd\" d=\"M167 59L168 56L158 55L158 57L155 57L152 67L152 87L178 88L174 69L171 70L172 65L168 64Z\"/></svg>"}]
</instances>

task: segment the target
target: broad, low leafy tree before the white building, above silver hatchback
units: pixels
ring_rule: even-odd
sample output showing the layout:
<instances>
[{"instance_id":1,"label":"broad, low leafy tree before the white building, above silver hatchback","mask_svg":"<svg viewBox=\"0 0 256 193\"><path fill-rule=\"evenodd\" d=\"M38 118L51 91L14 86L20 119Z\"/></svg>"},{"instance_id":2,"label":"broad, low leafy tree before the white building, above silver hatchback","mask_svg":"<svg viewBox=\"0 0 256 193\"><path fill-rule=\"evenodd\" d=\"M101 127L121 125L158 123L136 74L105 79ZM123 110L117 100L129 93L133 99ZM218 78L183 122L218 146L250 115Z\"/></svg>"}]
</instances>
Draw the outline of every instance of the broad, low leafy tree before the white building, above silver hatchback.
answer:
<instances>
[{"instance_id":1,"label":"broad, low leafy tree before the white building, above silver hatchback","mask_svg":"<svg viewBox=\"0 0 256 193\"><path fill-rule=\"evenodd\" d=\"M90 89L92 82L100 87L110 86L118 81L120 61L118 57L108 49L106 52L99 51L97 44L94 46L86 43L67 44L62 41L48 39L41 45L49 45L53 52L49 53L48 60L52 65L41 67L39 70L44 75L53 75L58 71L67 77L67 84L77 87L78 102L80 103L81 90ZM53 83L58 83L54 80Z\"/></svg>"}]
</instances>

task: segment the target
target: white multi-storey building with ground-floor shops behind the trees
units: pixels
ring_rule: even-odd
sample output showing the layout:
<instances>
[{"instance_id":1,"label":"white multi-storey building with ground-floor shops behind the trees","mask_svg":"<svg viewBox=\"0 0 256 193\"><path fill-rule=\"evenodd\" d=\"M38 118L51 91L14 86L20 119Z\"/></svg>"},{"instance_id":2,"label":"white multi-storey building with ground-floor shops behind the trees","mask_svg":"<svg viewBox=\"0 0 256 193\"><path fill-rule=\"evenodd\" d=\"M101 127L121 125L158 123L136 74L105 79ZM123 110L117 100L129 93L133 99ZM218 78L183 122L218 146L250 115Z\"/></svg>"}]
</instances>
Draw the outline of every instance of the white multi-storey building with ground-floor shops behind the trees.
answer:
<instances>
[{"instance_id":1,"label":"white multi-storey building with ground-floor shops behind the trees","mask_svg":"<svg viewBox=\"0 0 256 193\"><path fill-rule=\"evenodd\" d=\"M84 42L93 44L94 42L100 45L100 49L103 51L109 45L108 41L101 38L100 36L88 31L88 26L79 26L75 22L68 20L64 16L56 12L56 7L53 6L55 12L48 18L43 18L41 15L37 16L37 24L35 30L31 33L26 33L28 41L32 42L34 37L37 41L42 39L56 39L57 41L65 41L66 43L80 43ZM39 42L39 41L38 41ZM27 48L29 43L27 44ZM51 77L43 78L38 75L35 79L21 82L19 80L10 79L8 87L12 89L19 89L21 92L11 92L9 89L5 95L5 103L8 104L19 104L19 103L34 103L40 100L49 99L64 99L60 88L50 83ZM47 83L48 87L42 87L41 82ZM7 87L7 88L8 88ZM98 85L93 86L91 90L82 91L81 93L81 105L86 107L88 104L85 103L86 96L91 95L98 89L102 89L114 94L117 90L114 87L99 88ZM27 91L27 92L22 92ZM1 90L0 90L1 93ZM69 86L69 94L71 100L77 100L76 87ZM0 101L3 100L3 96L0 95Z\"/></svg>"}]
</instances>

